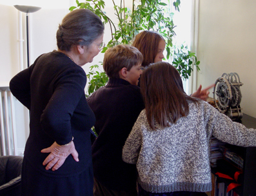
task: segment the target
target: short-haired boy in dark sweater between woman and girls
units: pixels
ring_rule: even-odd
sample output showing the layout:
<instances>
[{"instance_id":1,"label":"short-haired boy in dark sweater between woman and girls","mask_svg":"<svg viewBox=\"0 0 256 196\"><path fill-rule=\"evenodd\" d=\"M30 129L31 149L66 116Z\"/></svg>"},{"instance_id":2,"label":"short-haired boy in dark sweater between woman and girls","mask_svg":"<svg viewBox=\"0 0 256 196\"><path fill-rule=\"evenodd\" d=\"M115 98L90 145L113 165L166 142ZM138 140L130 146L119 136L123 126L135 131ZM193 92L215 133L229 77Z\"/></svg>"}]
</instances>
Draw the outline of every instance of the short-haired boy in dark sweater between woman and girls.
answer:
<instances>
[{"instance_id":1,"label":"short-haired boy in dark sweater between woman and girls","mask_svg":"<svg viewBox=\"0 0 256 196\"><path fill-rule=\"evenodd\" d=\"M118 45L106 50L103 68L108 84L94 92L88 104L95 113L97 139L92 145L94 195L137 195L136 166L122 160L122 148L144 108L140 88L143 55Z\"/></svg>"}]
</instances>

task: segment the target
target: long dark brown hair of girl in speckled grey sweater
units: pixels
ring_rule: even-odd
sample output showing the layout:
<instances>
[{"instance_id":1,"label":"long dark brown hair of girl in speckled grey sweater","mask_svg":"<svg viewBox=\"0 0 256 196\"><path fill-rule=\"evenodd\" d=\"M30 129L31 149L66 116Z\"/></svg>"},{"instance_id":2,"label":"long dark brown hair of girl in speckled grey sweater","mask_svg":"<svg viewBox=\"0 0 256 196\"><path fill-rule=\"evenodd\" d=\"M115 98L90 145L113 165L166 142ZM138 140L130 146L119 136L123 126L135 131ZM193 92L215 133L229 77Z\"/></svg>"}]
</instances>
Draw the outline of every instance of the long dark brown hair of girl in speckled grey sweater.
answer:
<instances>
[{"instance_id":1,"label":"long dark brown hair of girl in speckled grey sweater","mask_svg":"<svg viewBox=\"0 0 256 196\"><path fill-rule=\"evenodd\" d=\"M146 117L155 130L155 121L162 127L176 123L189 113L187 100L197 103L197 99L186 95L181 76L174 66L166 62L150 64L141 75Z\"/></svg>"}]
</instances>

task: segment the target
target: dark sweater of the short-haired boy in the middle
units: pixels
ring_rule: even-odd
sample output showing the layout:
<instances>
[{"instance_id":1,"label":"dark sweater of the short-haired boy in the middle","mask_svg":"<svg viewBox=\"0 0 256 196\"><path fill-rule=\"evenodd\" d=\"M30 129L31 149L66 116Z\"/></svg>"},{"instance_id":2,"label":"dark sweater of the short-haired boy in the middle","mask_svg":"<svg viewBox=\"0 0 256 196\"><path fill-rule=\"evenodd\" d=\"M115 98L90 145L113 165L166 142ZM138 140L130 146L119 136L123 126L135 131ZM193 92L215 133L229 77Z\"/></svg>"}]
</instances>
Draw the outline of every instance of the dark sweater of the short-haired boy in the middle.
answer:
<instances>
[{"instance_id":1,"label":"dark sweater of the short-haired boy in the middle","mask_svg":"<svg viewBox=\"0 0 256 196\"><path fill-rule=\"evenodd\" d=\"M122 148L144 108L140 88L123 79L110 79L87 101L99 135L92 146L94 177L112 190L134 189L136 166L123 162Z\"/></svg>"}]
</instances>

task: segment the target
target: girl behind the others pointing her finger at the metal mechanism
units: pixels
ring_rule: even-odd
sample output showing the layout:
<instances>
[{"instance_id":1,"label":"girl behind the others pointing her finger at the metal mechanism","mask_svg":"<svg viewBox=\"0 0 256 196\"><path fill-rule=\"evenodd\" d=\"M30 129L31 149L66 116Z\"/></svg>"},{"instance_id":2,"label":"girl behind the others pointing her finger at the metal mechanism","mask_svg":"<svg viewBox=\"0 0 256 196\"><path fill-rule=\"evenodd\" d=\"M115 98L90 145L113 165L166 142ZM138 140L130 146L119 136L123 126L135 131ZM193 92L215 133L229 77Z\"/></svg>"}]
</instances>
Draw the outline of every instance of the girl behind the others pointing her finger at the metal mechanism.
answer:
<instances>
[{"instance_id":1,"label":"girl behind the others pointing her finger at the metal mechanism","mask_svg":"<svg viewBox=\"0 0 256 196\"><path fill-rule=\"evenodd\" d=\"M164 58L164 37L157 32L145 30L137 34L133 40L132 46L138 48L139 52L143 54L143 63L141 64L143 67L146 67L151 63L162 61ZM213 86L214 84L202 89L202 85L200 85L197 91L192 93L192 97L197 97L206 101L210 93L208 90Z\"/></svg>"}]
</instances>

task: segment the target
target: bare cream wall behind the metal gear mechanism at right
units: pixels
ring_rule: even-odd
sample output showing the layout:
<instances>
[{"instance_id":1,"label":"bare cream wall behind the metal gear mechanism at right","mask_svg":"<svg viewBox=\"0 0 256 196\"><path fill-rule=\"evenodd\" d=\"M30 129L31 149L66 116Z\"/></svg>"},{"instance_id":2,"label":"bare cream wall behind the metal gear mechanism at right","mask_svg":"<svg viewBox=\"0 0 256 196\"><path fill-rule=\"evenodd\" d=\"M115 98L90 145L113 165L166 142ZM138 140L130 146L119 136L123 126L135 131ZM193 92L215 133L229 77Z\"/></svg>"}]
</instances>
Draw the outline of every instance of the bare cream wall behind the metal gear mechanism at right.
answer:
<instances>
[{"instance_id":1,"label":"bare cream wall behind the metal gear mechanism at right","mask_svg":"<svg viewBox=\"0 0 256 196\"><path fill-rule=\"evenodd\" d=\"M242 111L256 117L256 1L199 0L197 84L215 83L222 73L237 72Z\"/></svg>"}]
</instances>

